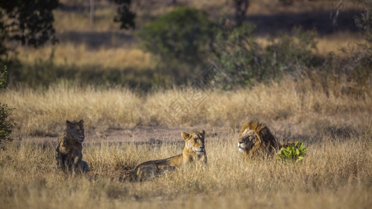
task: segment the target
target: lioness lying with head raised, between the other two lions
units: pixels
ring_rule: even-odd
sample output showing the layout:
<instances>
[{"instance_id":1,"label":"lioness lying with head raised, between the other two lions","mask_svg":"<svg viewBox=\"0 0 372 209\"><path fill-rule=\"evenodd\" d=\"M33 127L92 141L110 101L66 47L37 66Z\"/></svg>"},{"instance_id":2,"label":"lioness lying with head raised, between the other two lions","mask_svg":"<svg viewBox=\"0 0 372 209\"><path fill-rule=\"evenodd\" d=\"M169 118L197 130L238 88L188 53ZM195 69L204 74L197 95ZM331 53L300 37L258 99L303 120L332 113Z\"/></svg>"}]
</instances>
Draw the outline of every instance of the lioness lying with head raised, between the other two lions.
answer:
<instances>
[{"instance_id":1,"label":"lioness lying with head raised, between the other two lions","mask_svg":"<svg viewBox=\"0 0 372 209\"><path fill-rule=\"evenodd\" d=\"M188 134L181 132L181 135L185 140L185 148L183 148L182 154L162 160L151 160L141 163L135 169L130 171L129 176L125 179L131 181L148 180L158 176L163 171L176 169L181 165L196 162L196 160L207 163L206 148L204 146L205 134L206 132L204 130L201 130L200 132L192 131Z\"/></svg>"}]
</instances>

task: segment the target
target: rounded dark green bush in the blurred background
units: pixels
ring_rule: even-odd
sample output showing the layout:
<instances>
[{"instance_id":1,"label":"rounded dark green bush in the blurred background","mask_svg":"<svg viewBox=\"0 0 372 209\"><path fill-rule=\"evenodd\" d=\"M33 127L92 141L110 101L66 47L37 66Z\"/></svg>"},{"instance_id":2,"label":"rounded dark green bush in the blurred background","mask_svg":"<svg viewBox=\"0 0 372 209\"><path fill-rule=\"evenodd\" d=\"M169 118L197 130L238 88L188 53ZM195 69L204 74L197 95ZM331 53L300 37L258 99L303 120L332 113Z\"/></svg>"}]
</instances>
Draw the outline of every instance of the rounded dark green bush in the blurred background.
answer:
<instances>
[{"instance_id":1,"label":"rounded dark green bush in the blurred background","mask_svg":"<svg viewBox=\"0 0 372 209\"><path fill-rule=\"evenodd\" d=\"M144 26L137 36L141 47L162 63L179 61L198 65L208 58L214 24L203 10L180 7Z\"/></svg>"}]
</instances>

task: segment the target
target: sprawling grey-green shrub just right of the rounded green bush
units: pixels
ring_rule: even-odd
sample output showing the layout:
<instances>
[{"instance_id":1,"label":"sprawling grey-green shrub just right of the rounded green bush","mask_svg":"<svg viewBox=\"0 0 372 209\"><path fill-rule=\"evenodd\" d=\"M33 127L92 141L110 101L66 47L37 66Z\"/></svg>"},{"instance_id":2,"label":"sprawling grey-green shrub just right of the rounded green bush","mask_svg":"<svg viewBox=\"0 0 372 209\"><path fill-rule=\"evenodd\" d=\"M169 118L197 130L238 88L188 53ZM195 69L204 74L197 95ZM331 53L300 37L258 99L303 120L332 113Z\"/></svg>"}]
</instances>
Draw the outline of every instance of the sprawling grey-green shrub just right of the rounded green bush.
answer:
<instances>
[{"instance_id":1,"label":"sprawling grey-green shrub just right of the rounded green bush","mask_svg":"<svg viewBox=\"0 0 372 209\"><path fill-rule=\"evenodd\" d=\"M295 29L293 36L282 36L262 49L254 41L254 28L251 24L224 25L217 32L213 54L228 76L225 88L280 79L284 74L323 63L311 52L316 47L316 33Z\"/></svg>"}]
</instances>

